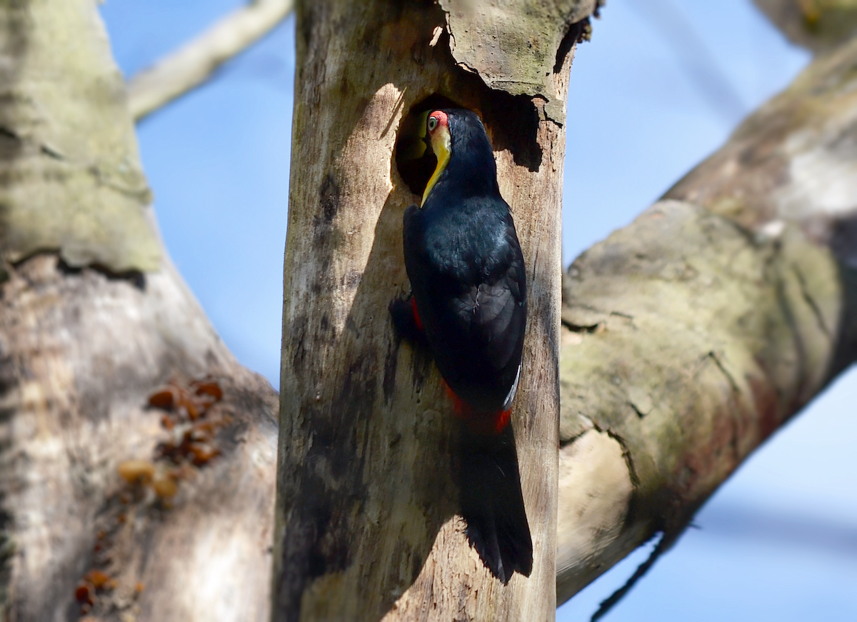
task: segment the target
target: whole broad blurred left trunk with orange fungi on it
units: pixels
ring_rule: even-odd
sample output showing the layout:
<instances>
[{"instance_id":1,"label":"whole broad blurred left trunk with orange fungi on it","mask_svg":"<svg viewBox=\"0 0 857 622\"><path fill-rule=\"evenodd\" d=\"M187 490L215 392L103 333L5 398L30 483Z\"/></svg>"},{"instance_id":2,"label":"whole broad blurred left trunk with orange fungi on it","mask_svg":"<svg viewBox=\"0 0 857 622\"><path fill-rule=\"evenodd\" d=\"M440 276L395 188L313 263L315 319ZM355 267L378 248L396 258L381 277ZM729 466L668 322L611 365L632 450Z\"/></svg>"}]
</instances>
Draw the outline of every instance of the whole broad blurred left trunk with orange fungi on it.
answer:
<instances>
[{"instance_id":1,"label":"whole broad blurred left trunk with orange fungi on it","mask_svg":"<svg viewBox=\"0 0 857 622\"><path fill-rule=\"evenodd\" d=\"M267 619L276 394L161 247L95 4L0 33L0 619ZM147 406L209 375L201 419Z\"/></svg>"}]
</instances>

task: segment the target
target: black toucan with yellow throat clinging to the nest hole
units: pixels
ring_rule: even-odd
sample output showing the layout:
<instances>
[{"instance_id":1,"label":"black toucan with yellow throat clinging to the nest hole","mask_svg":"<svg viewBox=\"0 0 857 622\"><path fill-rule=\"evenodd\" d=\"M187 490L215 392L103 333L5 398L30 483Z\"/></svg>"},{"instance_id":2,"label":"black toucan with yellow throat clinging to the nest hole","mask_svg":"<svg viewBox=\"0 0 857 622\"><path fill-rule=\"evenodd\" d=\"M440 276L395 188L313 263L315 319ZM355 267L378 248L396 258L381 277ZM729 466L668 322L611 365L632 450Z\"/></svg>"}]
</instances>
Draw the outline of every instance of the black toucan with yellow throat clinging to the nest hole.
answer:
<instances>
[{"instance_id":1,"label":"black toucan with yellow throat clinging to the nest hole","mask_svg":"<svg viewBox=\"0 0 857 622\"><path fill-rule=\"evenodd\" d=\"M471 546L502 583L532 571L532 539L511 423L527 317L524 256L472 111L430 111L437 158L422 203L405 210L411 296L390 305L403 337L428 347L460 420L453 464Z\"/></svg>"}]
</instances>

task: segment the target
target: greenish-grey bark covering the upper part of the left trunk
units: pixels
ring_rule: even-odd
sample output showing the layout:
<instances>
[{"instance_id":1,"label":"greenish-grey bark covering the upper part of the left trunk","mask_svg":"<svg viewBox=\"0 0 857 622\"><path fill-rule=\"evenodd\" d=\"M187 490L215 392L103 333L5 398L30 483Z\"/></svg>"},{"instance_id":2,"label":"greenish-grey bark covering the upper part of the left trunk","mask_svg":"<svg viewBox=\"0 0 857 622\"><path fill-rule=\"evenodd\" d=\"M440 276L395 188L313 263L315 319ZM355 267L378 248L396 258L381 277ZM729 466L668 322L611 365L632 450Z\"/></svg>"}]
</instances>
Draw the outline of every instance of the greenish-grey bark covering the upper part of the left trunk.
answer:
<instances>
[{"instance_id":1,"label":"greenish-grey bark covering the upper part of the left trunk","mask_svg":"<svg viewBox=\"0 0 857 622\"><path fill-rule=\"evenodd\" d=\"M152 195L94 3L5 4L0 254L15 263L55 250L69 266L158 270Z\"/></svg>"}]
</instances>

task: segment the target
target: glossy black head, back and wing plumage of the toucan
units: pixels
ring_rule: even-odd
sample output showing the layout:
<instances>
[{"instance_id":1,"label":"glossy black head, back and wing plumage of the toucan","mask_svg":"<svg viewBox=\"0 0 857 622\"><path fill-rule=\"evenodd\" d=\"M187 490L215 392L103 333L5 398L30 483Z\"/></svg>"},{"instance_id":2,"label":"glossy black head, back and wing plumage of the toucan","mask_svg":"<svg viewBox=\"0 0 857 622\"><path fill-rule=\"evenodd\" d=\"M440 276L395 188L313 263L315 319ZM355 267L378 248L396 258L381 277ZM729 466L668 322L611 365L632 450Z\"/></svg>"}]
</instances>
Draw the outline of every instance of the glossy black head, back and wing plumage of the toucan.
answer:
<instances>
[{"instance_id":1,"label":"glossy black head, back and wing plumage of the toucan","mask_svg":"<svg viewBox=\"0 0 857 622\"><path fill-rule=\"evenodd\" d=\"M476 411L506 410L524 346L524 257L482 122L445 112L451 155L405 212L405 266L446 384Z\"/></svg>"}]
</instances>

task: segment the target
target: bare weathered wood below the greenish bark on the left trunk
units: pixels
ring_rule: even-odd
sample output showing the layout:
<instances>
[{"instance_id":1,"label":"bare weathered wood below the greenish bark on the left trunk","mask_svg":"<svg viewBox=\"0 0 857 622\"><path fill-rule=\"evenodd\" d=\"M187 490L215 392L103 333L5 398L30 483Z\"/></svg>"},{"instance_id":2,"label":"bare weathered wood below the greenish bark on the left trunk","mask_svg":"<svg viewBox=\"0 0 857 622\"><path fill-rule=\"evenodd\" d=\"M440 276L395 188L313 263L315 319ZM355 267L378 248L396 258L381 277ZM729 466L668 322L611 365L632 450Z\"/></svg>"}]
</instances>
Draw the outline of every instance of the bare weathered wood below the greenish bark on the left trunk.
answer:
<instances>
[{"instance_id":1,"label":"bare weathered wood below the greenish bark on the left trunk","mask_svg":"<svg viewBox=\"0 0 857 622\"><path fill-rule=\"evenodd\" d=\"M66 619L93 568L118 581L99 619L197 619L215 604L218 619L266 619L276 434L267 381L232 360L171 269L141 288L45 254L15 266L2 295L4 619ZM170 508L149 498L118 511L117 465L154 460L170 438L146 404L176 374L219 380L232 419L217 435L222 453L191 469ZM96 544L105 550L94 554Z\"/></svg>"}]
</instances>

